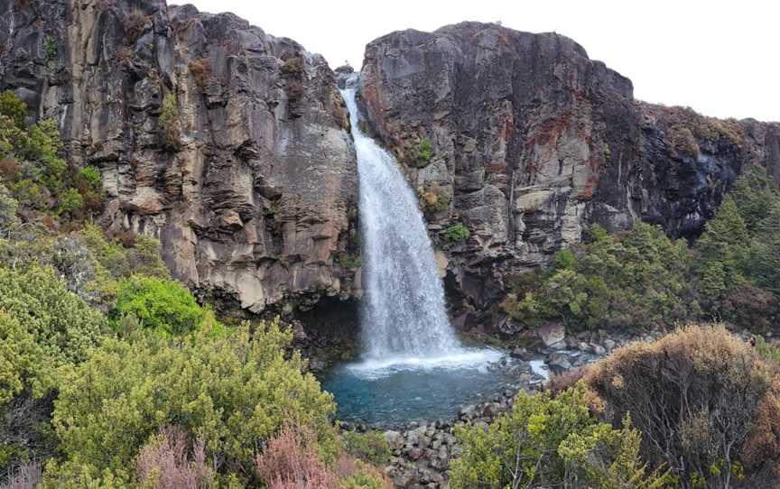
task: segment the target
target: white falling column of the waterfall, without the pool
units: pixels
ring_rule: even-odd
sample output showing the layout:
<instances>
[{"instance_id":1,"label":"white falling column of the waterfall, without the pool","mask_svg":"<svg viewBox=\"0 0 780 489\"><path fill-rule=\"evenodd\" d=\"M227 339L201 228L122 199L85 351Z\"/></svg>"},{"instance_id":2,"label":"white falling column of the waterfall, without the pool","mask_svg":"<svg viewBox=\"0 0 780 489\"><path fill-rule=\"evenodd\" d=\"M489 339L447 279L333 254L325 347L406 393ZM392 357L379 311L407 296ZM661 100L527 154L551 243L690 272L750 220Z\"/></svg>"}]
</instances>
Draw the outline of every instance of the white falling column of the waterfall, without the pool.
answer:
<instances>
[{"instance_id":1,"label":"white falling column of the waterfall, without the pool","mask_svg":"<svg viewBox=\"0 0 780 489\"><path fill-rule=\"evenodd\" d=\"M360 131L357 77L341 90L357 152L363 303L368 359L448 355L452 332L431 240L417 198L393 156Z\"/></svg>"}]
</instances>

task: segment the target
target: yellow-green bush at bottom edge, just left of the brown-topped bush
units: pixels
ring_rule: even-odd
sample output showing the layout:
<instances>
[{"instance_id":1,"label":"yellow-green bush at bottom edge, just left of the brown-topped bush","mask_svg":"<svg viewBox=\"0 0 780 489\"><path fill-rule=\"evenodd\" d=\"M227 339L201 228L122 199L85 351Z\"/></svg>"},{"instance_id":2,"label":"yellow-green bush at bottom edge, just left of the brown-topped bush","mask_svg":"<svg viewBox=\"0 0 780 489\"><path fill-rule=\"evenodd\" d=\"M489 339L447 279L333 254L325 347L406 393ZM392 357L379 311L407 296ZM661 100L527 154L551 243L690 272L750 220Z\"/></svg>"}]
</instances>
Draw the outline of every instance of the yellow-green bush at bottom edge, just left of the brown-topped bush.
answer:
<instances>
[{"instance_id":1,"label":"yellow-green bush at bottom edge, just left of the brown-topped bush","mask_svg":"<svg viewBox=\"0 0 780 489\"><path fill-rule=\"evenodd\" d=\"M453 489L478 487L671 487L646 470L640 434L629 421L613 429L593 418L583 383L552 399L520 392L512 411L484 430L456 431L461 456L451 463ZM573 485L577 481L579 485Z\"/></svg>"}]
</instances>

